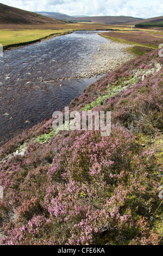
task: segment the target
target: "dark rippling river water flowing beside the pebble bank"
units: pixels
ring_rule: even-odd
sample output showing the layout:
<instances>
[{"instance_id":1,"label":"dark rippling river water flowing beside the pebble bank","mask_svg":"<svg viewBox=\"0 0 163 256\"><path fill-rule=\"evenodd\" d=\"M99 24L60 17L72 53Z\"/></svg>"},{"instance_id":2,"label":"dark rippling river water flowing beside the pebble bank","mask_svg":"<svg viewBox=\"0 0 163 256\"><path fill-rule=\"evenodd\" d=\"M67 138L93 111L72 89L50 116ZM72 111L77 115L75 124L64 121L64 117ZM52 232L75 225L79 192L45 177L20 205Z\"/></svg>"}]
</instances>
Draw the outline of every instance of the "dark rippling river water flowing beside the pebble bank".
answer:
<instances>
[{"instance_id":1,"label":"dark rippling river water flowing beside the pebble bank","mask_svg":"<svg viewBox=\"0 0 163 256\"><path fill-rule=\"evenodd\" d=\"M15 133L51 118L97 80L76 77L86 71L99 45L108 41L98 33L76 31L3 53L0 145Z\"/></svg>"}]
</instances>

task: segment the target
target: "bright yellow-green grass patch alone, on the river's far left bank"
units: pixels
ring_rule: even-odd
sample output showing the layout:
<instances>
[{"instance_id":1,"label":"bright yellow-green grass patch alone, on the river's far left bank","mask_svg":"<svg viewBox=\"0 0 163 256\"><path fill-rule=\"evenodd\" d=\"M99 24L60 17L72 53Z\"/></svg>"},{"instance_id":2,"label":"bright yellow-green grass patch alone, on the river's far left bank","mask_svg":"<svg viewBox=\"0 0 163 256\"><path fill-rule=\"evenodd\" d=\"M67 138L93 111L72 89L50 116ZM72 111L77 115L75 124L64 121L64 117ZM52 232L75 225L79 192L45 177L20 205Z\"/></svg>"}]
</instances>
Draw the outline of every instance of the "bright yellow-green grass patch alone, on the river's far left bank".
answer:
<instances>
[{"instance_id":1,"label":"bright yellow-green grass patch alone, on the river's far left bank","mask_svg":"<svg viewBox=\"0 0 163 256\"><path fill-rule=\"evenodd\" d=\"M71 33L68 29L24 29L22 31L0 31L0 44L4 50L21 45L27 45L33 42L38 42L51 36L63 35Z\"/></svg>"}]
</instances>

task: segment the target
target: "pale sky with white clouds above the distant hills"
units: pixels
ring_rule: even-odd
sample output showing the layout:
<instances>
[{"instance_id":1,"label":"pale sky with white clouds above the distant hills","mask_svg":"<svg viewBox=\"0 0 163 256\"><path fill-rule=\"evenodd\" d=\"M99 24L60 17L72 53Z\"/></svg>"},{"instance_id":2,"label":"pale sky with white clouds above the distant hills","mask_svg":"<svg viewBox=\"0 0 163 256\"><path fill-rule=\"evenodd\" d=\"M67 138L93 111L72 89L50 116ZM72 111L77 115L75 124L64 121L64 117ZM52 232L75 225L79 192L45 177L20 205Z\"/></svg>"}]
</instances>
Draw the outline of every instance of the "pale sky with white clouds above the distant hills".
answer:
<instances>
[{"instance_id":1,"label":"pale sky with white clouds above the distant hills","mask_svg":"<svg viewBox=\"0 0 163 256\"><path fill-rule=\"evenodd\" d=\"M163 15L162 0L0 0L28 11L54 11L68 15L150 18Z\"/></svg>"}]
</instances>

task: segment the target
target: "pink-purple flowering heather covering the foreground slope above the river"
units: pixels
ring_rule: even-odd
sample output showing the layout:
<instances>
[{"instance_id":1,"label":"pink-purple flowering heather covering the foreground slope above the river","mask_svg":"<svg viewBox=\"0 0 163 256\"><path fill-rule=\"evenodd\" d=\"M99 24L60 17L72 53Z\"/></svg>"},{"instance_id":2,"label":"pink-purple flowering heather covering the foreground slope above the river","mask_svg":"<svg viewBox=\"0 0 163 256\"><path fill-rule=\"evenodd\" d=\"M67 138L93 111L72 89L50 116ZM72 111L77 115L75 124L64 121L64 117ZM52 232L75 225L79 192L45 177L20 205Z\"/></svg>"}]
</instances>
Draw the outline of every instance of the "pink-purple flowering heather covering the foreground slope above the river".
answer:
<instances>
[{"instance_id":1,"label":"pink-purple flowering heather covering the foreground slope above the river","mask_svg":"<svg viewBox=\"0 0 163 256\"><path fill-rule=\"evenodd\" d=\"M110 136L54 134L51 119L1 147L2 244L162 243L162 64L158 50L130 60L71 102L111 111Z\"/></svg>"}]
</instances>

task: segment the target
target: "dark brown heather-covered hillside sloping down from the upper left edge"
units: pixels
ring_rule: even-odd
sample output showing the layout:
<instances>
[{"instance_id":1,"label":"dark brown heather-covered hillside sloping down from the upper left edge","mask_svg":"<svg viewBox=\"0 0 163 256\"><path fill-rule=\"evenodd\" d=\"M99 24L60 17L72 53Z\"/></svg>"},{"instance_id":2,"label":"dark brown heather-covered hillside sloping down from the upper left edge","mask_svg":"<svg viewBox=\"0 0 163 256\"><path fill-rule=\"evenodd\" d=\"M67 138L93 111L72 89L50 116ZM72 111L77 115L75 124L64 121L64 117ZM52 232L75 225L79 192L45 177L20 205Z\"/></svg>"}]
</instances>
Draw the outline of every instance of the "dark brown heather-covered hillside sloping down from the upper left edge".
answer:
<instances>
[{"instance_id":1,"label":"dark brown heather-covered hillside sloping down from the upper left edge","mask_svg":"<svg viewBox=\"0 0 163 256\"><path fill-rule=\"evenodd\" d=\"M0 3L0 24L62 24L55 20L30 11L21 10Z\"/></svg>"}]
</instances>

